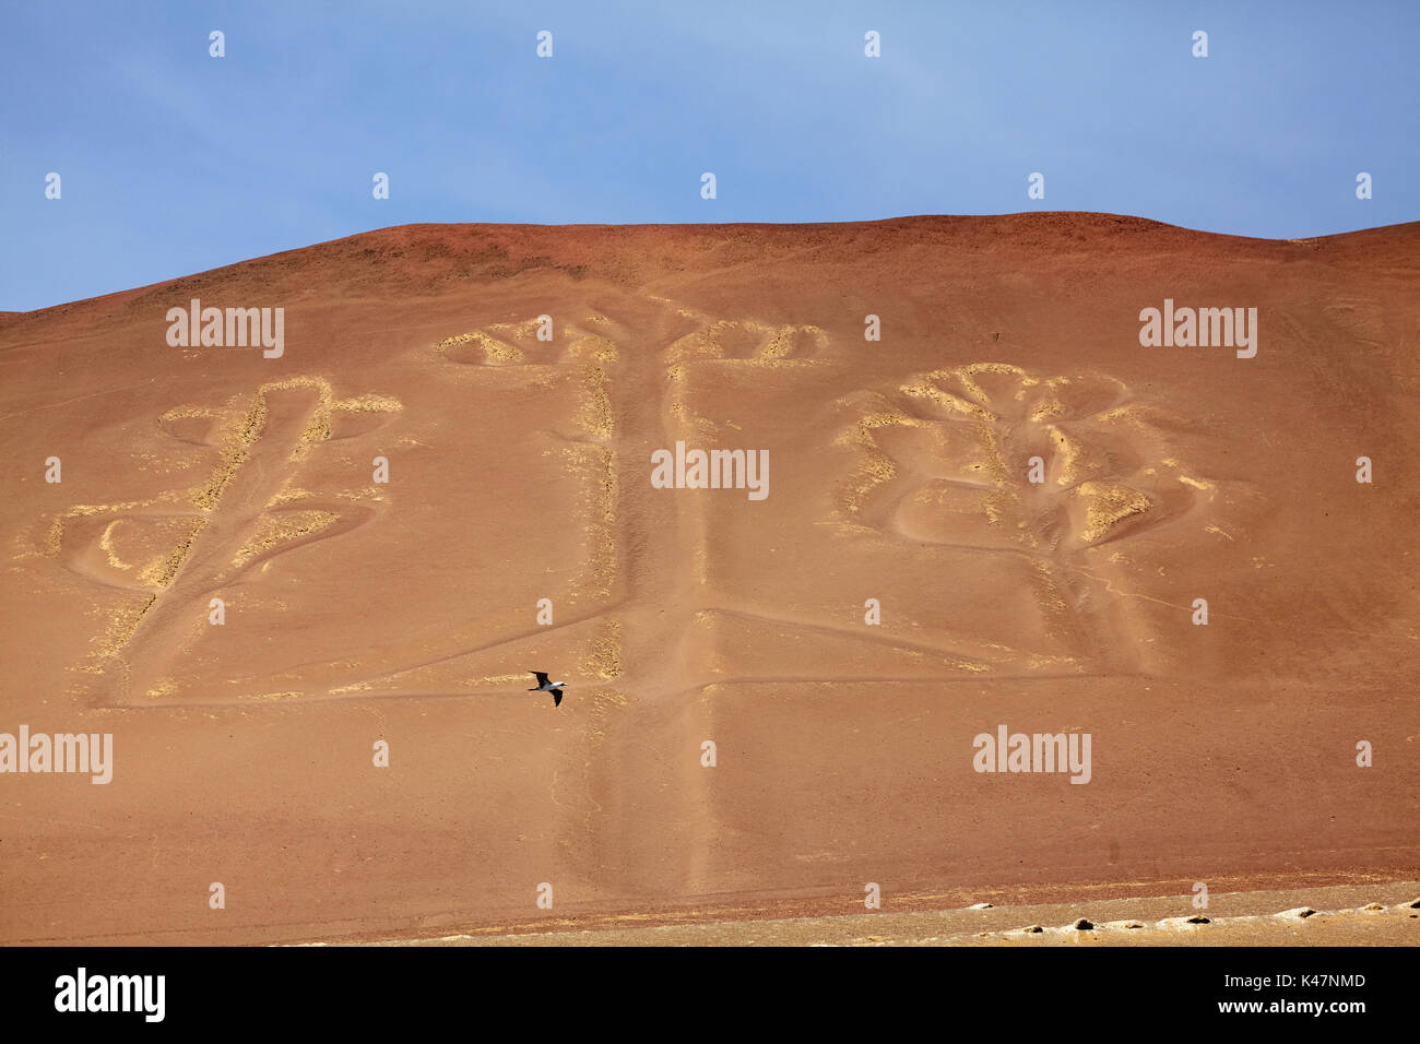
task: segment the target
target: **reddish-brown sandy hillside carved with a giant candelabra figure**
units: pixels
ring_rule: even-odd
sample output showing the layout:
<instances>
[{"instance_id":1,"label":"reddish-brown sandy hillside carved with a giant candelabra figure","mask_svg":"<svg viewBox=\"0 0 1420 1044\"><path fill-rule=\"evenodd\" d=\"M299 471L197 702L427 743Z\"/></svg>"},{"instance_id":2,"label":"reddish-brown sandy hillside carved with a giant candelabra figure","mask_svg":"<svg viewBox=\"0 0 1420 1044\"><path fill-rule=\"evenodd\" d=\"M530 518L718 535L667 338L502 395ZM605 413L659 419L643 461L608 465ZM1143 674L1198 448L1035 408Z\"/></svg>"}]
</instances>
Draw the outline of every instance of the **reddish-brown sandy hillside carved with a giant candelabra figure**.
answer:
<instances>
[{"instance_id":1,"label":"reddish-brown sandy hillside carved with a giant candelabra figure","mask_svg":"<svg viewBox=\"0 0 1420 1044\"><path fill-rule=\"evenodd\" d=\"M0 942L1414 879L1417 247L409 226L0 315L0 732L118 760L0 777ZM168 347L193 297L284 355ZM1257 357L1142 348L1166 297ZM770 496L652 489L677 440Z\"/></svg>"}]
</instances>

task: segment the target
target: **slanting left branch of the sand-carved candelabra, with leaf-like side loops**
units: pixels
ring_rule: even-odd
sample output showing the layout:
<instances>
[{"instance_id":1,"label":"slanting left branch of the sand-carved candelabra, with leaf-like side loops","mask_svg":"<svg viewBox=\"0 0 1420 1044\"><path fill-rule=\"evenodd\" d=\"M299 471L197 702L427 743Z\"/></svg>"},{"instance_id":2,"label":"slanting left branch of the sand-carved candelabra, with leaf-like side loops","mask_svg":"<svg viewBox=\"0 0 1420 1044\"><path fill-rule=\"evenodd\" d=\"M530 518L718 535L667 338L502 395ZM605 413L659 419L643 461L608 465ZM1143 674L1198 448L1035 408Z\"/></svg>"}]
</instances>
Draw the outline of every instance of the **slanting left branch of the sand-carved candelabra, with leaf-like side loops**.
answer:
<instances>
[{"instance_id":1,"label":"slanting left branch of the sand-carved candelabra, with leaf-like side loops","mask_svg":"<svg viewBox=\"0 0 1420 1044\"><path fill-rule=\"evenodd\" d=\"M277 555L364 524L369 491L317 497L293 484L322 442L346 439L402 409L395 399L337 399L322 378L261 385L224 408L179 406L158 418L175 439L217 450L210 477L149 500L77 504L53 520L44 553L97 584L135 592L108 621L95 673L118 678L116 702L170 695L165 665L206 621L207 601ZM373 494L378 499L378 494Z\"/></svg>"}]
</instances>

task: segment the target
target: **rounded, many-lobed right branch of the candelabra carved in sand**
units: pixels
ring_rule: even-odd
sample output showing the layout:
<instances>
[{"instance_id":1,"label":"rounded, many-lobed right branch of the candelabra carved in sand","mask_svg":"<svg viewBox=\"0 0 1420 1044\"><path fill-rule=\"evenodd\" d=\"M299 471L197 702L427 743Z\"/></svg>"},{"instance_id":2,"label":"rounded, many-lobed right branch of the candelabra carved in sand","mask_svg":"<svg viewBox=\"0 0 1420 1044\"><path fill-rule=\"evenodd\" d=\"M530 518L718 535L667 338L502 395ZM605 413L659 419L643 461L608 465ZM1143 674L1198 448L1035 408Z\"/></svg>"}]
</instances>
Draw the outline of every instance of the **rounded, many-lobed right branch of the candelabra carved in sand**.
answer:
<instances>
[{"instance_id":1,"label":"rounded, many-lobed right branch of the candelabra carved in sand","mask_svg":"<svg viewBox=\"0 0 1420 1044\"><path fill-rule=\"evenodd\" d=\"M1120 628L1133 607L1110 604L1118 592L1099 575L1120 575L1127 560L1096 550L1213 500L1217 483L1166 456L1164 429L1176 422L1112 378L1034 376L995 362L836 405L849 423L835 445L856 457L838 493L849 531L1024 558L1039 612L1071 652L1015 653L1017 669L1137 669L1142 626ZM1044 484L1027 482L1032 456L1047 464Z\"/></svg>"}]
</instances>

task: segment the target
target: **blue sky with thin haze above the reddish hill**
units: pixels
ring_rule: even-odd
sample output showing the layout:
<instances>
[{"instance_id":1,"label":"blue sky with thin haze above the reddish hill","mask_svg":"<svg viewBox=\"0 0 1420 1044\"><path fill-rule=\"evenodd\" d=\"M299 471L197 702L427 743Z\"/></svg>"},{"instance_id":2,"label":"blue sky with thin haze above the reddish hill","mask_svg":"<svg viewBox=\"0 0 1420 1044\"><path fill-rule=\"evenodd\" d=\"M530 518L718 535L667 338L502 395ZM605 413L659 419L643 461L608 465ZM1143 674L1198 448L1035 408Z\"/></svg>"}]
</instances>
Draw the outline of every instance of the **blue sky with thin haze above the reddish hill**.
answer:
<instances>
[{"instance_id":1,"label":"blue sky with thin haze above the reddish hill","mask_svg":"<svg viewBox=\"0 0 1420 1044\"><path fill-rule=\"evenodd\" d=\"M1420 217L1406 0L0 11L0 310L408 222L1105 210L1301 237Z\"/></svg>"}]
</instances>

